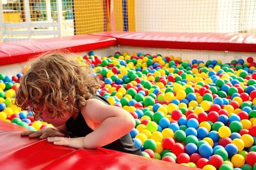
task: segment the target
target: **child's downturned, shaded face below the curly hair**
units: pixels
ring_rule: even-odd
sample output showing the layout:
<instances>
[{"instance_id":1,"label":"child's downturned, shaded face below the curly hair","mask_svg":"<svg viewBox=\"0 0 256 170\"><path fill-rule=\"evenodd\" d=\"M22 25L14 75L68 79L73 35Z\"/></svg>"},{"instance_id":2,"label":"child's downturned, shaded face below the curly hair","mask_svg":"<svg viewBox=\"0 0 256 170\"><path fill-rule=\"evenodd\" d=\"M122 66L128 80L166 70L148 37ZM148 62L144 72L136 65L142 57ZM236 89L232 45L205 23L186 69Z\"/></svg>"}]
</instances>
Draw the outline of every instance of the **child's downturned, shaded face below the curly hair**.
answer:
<instances>
[{"instance_id":1,"label":"child's downturned, shaded face below the curly hair","mask_svg":"<svg viewBox=\"0 0 256 170\"><path fill-rule=\"evenodd\" d=\"M42 110L38 113L38 118L41 118L44 122L52 124L55 127L65 124L70 117L72 117L72 113L70 112L63 113L61 117L53 117L52 111L48 109Z\"/></svg>"}]
</instances>

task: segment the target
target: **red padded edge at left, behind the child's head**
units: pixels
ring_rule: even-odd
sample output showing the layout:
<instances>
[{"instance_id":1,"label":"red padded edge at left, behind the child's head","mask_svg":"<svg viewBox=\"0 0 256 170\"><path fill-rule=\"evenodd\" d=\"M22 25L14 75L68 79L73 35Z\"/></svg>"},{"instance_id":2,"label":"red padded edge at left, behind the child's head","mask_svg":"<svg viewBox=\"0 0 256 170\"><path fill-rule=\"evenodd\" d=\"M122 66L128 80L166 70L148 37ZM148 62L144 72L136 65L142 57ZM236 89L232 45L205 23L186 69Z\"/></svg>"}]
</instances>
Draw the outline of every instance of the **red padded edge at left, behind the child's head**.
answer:
<instances>
[{"instance_id":1,"label":"red padded edge at left, behind the child's head","mask_svg":"<svg viewBox=\"0 0 256 170\"><path fill-rule=\"evenodd\" d=\"M66 49L70 52L84 52L115 45L115 38L92 35L28 39L0 43L0 66L25 62L42 52L48 52L51 50Z\"/></svg>"}]
</instances>

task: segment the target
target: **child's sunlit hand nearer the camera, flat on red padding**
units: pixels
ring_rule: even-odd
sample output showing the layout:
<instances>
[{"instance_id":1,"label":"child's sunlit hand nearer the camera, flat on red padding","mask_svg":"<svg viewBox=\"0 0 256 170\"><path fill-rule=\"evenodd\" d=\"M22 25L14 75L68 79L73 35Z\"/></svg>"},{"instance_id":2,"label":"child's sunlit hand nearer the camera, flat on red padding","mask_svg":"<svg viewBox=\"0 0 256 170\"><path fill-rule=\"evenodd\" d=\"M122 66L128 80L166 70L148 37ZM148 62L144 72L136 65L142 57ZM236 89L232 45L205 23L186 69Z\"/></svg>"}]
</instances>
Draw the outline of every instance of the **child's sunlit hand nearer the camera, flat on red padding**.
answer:
<instances>
[{"instance_id":1,"label":"child's sunlit hand nearer the camera, flat on red padding","mask_svg":"<svg viewBox=\"0 0 256 170\"><path fill-rule=\"evenodd\" d=\"M63 138L63 137L50 137L47 141L54 145L69 146L72 148L83 148L83 137L81 138Z\"/></svg>"}]
</instances>

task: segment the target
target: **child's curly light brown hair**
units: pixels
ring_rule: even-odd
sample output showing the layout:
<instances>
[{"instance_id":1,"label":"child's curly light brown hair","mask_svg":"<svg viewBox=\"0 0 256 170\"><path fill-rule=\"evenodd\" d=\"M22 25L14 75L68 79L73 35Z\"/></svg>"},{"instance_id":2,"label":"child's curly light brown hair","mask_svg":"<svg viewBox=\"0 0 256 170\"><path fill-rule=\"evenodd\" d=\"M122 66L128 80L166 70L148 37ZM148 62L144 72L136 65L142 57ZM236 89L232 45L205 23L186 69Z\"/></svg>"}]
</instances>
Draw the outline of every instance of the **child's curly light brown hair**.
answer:
<instances>
[{"instance_id":1,"label":"child's curly light brown hair","mask_svg":"<svg viewBox=\"0 0 256 170\"><path fill-rule=\"evenodd\" d=\"M47 109L53 117L61 117L67 111L80 111L99 87L89 64L79 63L71 53L45 53L33 59L22 76L15 104L37 116Z\"/></svg>"}]
</instances>

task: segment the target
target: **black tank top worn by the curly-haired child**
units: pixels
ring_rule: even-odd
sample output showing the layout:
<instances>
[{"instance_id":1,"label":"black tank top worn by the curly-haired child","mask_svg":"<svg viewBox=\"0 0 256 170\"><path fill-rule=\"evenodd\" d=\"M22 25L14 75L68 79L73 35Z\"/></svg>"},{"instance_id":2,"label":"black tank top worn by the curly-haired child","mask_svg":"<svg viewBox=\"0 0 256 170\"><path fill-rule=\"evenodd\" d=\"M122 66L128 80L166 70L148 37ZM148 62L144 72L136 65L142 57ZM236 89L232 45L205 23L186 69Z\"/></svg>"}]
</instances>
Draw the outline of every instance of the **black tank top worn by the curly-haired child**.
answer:
<instances>
[{"instance_id":1,"label":"black tank top worn by the curly-haired child","mask_svg":"<svg viewBox=\"0 0 256 170\"><path fill-rule=\"evenodd\" d=\"M106 101L106 99L104 99L101 96L93 96L91 99L98 99L106 104L109 104L108 101ZM93 130L86 124L81 112L79 113L76 120L70 118L66 122L66 127L70 138L83 137L89 134L90 132L93 132ZM132 141L132 138L129 133L125 134L125 136L122 136L120 139L113 141L113 143L109 143L108 145L102 146L102 148L117 150L125 153L132 153L135 155L142 155L140 148L135 147L134 142Z\"/></svg>"}]
</instances>

